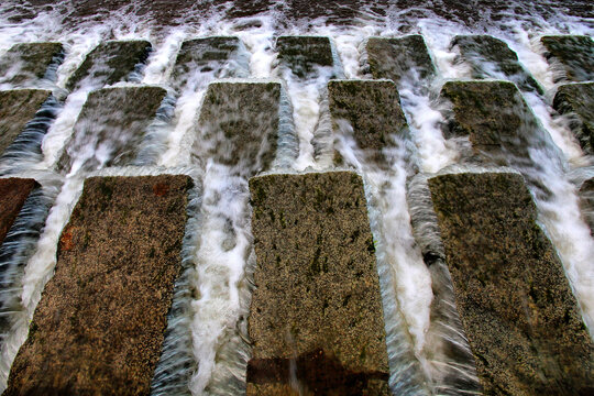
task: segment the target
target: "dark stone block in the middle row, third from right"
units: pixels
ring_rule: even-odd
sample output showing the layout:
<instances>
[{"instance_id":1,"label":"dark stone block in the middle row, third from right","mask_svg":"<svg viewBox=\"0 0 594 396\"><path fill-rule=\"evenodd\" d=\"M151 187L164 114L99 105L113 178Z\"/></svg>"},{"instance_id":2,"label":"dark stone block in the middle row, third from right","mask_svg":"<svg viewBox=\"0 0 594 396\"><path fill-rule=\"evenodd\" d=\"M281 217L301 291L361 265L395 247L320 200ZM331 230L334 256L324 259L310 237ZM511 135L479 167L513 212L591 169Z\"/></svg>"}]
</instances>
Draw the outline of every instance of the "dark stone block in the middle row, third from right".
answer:
<instances>
[{"instance_id":1,"label":"dark stone block in the middle row, third from right","mask_svg":"<svg viewBox=\"0 0 594 396\"><path fill-rule=\"evenodd\" d=\"M408 124L400 109L400 97L392 81L332 80L328 84L330 113L334 130L346 120L365 162L389 167L384 148L395 146L391 134L408 134ZM341 131L344 132L344 131ZM343 158L334 153L334 163Z\"/></svg>"}]
</instances>

